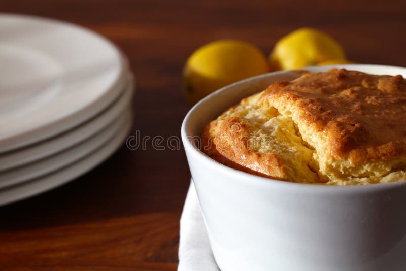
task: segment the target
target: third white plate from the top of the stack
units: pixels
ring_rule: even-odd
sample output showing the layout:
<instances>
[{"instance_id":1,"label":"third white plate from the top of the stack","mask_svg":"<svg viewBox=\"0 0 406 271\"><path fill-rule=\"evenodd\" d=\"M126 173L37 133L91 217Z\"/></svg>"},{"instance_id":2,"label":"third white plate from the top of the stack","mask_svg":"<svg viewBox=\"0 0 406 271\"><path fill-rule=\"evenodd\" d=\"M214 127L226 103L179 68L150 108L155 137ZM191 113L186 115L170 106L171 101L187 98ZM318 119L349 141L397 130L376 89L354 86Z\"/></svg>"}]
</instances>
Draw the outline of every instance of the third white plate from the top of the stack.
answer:
<instances>
[{"instance_id":1,"label":"third white plate from the top of the stack","mask_svg":"<svg viewBox=\"0 0 406 271\"><path fill-rule=\"evenodd\" d=\"M130 108L127 108L125 112L113 120L113 123L100 132L95 133L85 141L65 151L0 173L0 189L39 178L80 160L82 157L92 153L114 137L130 118L130 115L131 110Z\"/></svg>"}]
</instances>

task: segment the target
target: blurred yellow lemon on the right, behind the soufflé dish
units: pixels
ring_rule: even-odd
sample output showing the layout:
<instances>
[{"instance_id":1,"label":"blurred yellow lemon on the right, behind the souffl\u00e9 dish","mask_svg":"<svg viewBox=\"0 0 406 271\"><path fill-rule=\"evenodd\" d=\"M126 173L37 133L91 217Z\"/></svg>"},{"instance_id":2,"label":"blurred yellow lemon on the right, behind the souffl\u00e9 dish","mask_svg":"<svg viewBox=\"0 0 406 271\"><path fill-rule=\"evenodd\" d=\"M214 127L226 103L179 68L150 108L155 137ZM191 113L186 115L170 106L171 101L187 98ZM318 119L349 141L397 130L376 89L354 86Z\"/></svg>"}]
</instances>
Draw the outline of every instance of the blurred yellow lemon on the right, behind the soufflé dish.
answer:
<instances>
[{"instance_id":1,"label":"blurred yellow lemon on the right, behind the souffl\u00e9 dish","mask_svg":"<svg viewBox=\"0 0 406 271\"><path fill-rule=\"evenodd\" d=\"M283 37L269 56L276 70L298 69L331 59L346 59L343 48L326 33L312 28L300 28Z\"/></svg>"}]
</instances>

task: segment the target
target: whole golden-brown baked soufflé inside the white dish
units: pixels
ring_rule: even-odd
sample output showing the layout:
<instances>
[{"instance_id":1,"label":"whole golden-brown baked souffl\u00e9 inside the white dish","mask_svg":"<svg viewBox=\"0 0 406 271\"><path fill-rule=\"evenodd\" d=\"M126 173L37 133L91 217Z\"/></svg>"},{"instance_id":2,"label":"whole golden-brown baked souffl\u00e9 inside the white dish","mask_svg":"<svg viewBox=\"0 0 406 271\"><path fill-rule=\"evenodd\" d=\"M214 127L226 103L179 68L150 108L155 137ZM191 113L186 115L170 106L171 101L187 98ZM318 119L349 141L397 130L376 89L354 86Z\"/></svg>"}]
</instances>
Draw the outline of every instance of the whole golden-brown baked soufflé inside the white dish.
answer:
<instances>
[{"instance_id":1,"label":"whole golden-brown baked souffl\u00e9 inside the white dish","mask_svg":"<svg viewBox=\"0 0 406 271\"><path fill-rule=\"evenodd\" d=\"M406 179L406 81L331 70L276 82L210 122L202 139L213 159L280 180Z\"/></svg>"}]
</instances>

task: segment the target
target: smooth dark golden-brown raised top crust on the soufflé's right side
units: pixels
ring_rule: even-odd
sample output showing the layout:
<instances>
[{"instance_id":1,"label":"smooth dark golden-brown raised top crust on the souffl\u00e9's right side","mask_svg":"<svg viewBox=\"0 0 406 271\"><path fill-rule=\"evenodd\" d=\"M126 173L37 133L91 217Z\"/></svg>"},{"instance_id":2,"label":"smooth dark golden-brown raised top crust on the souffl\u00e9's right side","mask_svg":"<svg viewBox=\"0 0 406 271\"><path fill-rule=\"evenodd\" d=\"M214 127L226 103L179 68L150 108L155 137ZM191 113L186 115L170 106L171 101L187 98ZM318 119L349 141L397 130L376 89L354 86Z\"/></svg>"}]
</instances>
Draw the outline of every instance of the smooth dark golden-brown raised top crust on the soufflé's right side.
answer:
<instances>
[{"instance_id":1,"label":"smooth dark golden-brown raised top crust on the souffl\u00e9's right side","mask_svg":"<svg viewBox=\"0 0 406 271\"><path fill-rule=\"evenodd\" d=\"M331 156L361 164L405 153L405 94L400 75L343 69L273 84L263 98L291 104L298 122L326 133Z\"/></svg>"}]
</instances>

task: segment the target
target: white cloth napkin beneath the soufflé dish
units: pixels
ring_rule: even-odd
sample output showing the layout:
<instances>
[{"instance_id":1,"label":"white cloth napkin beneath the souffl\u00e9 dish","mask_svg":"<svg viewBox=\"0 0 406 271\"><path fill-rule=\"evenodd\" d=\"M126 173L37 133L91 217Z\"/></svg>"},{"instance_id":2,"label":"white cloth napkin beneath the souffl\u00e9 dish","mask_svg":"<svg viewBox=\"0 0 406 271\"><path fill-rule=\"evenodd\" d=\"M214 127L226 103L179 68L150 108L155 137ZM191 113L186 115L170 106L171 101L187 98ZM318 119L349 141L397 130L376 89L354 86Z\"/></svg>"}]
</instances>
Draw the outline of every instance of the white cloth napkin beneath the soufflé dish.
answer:
<instances>
[{"instance_id":1,"label":"white cloth napkin beneath the souffl\u00e9 dish","mask_svg":"<svg viewBox=\"0 0 406 271\"><path fill-rule=\"evenodd\" d=\"M193 181L180 222L178 271L220 271L214 260Z\"/></svg>"}]
</instances>

